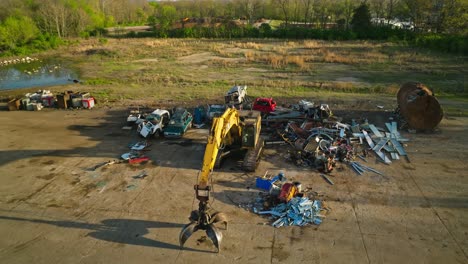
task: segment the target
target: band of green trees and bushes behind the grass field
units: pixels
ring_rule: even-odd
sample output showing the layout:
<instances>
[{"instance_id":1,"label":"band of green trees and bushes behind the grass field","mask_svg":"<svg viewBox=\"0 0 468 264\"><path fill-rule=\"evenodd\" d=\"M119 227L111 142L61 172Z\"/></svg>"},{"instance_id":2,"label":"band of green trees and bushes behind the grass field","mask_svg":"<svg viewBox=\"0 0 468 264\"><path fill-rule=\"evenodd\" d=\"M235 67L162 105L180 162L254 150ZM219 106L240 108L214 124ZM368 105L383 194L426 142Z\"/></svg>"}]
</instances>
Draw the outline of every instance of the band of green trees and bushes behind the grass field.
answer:
<instances>
[{"instance_id":1,"label":"band of green trees and bushes behind the grass field","mask_svg":"<svg viewBox=\"0 0 468 264\"><path fill-rule=\"evenodd\" d=\"M216 27L212 23L211 27L185 28L184 21L194 18L218 23ZM371 18L380 24L378 28L369 25ZM259 19L282 23L278 28L252 27ZM243 21L242 26L233 20ZM174 28L176 23L181 27ZM402 23L411 27L395 29ZM129 25L151 25L155 30L149 35L156 37L395 38L423 46L447 44L456 46L456 51L461 45L464 51L468 1L2 0L0 52L8 55L54 48L70 37L99 36L107 27Z\"/></svg>"}]
</instances>

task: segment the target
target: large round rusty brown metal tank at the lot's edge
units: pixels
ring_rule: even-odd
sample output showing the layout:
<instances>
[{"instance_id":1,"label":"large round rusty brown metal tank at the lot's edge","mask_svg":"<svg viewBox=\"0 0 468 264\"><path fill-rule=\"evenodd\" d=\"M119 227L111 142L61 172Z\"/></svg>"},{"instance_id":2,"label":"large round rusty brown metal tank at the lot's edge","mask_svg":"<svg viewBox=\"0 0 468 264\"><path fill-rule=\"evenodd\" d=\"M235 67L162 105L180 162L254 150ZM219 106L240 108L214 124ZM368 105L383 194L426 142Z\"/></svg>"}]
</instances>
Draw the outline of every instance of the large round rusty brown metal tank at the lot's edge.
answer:
<instances>
[{"instance_id":1,"label":"large round rusty brown metal tank at the lot's edge","mask_svg":"<svg viewBox=\"0 0 468 264\"><path fill-rule=\"evenodd\" d=\"M434 93L424 84L407 82L397 94L400 114L411 128L418 130L434 129L442 120L443 110Z\"/></svg>"}]
</instances>

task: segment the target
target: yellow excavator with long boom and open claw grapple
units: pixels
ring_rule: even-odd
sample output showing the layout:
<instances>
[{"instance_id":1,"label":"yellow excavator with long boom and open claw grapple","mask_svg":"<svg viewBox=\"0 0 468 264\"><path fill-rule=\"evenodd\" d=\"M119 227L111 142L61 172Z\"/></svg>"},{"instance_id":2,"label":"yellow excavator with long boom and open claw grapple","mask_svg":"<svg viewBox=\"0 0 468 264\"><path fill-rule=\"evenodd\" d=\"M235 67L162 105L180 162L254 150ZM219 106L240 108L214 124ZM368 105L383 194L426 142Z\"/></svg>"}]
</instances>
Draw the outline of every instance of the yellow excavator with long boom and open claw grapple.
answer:
<instances>
[{"instance_id":1,"label":"yellow excavator with long boom and open claw grapple","mask_svg":"<svg viewBox=\"0 0 468 264\"><path fill-rule=\"evenodd\" d=\"M205 230L217 251L223 238L221 231L214 225L224 223L227 228L227 217L212 209L210 199L209 180L213 168L232 151L245 151L242 167L246 171L255 171L260 160L264 141L260 137L261 116L258 111L237 110L228 108L220 117L213 119L213 125L208 136L203 165L195 185L198 210L192 211L189 220L179 235L181 248L185 241L197 230Z\"/></svg>"}]
</instances>

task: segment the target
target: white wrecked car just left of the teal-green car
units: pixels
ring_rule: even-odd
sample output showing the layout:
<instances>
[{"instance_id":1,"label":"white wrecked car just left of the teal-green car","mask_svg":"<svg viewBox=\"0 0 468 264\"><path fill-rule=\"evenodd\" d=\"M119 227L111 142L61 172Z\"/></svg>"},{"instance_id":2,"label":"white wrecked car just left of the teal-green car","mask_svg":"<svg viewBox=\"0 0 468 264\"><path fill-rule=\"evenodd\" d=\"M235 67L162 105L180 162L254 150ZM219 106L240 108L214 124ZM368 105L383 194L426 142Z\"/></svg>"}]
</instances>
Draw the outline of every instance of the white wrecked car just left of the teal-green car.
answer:
<instances>
[{"instance_id":1,"label":"white wrecked car just left of the teal-green car","mask_svg":"<svg viewBox=\"0 0 468 264\"><path fill-rule=\"evenodd\" d=\"M144 138L154 135L162 136L163 129L169 123L170 117L169 111L156 109L138 124L137 132Z\"/></svg>"}]
</instances>

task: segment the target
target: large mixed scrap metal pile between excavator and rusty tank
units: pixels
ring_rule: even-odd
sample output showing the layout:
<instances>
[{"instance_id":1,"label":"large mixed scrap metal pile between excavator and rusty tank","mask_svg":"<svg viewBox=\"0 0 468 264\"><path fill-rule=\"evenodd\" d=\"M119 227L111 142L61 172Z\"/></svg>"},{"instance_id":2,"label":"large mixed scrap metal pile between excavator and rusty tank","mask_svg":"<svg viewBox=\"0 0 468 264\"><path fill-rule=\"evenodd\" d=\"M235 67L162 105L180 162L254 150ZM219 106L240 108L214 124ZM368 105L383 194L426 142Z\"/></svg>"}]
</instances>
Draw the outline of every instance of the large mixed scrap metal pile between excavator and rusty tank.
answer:
<instances>
[{"instance_id":1,"label":"large mixed scrap metal pile between excavator and rusty tank","mask_svg":"<svg viewBox=\"0 0 468 264\"><path fill-rule=\"evenodd\" d=\"M304 104L305 101L302 101ZM278 131L281 138L289 143L292 150L286 158L298 166L310 166L321 172L329 173L337 161L347 163L356 173L361 175L364 170L379 173L367 166L359 166L356 158L367 161L373 152L380 161L390 164L404 156L409 162L397 130L396 122L385 123L386 129L369 124L367 120L358 124L352 120L345 124L332 115L328 106L311 107L308 102L307 111L290 111L288 116L300 118L288 121L284 129ZM365 169L369 168L369 169Z\"/></svg>"}]
</instances>

